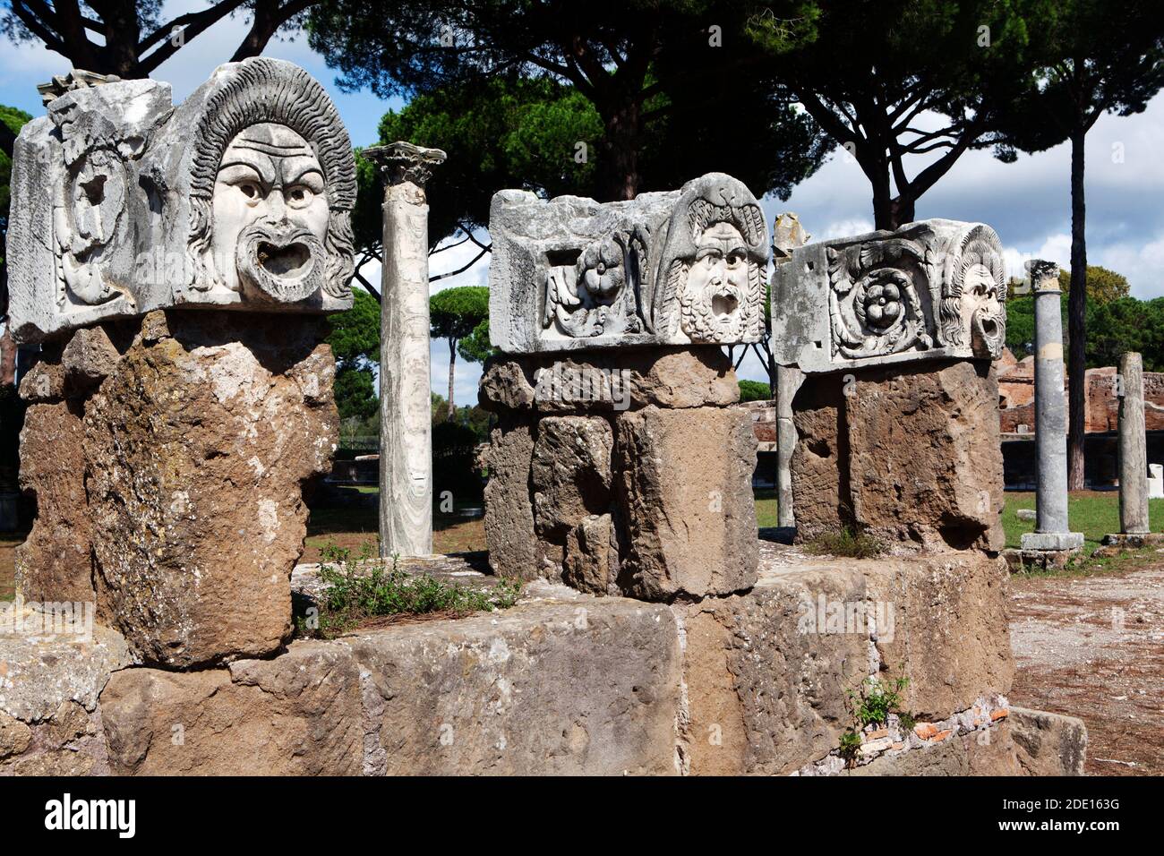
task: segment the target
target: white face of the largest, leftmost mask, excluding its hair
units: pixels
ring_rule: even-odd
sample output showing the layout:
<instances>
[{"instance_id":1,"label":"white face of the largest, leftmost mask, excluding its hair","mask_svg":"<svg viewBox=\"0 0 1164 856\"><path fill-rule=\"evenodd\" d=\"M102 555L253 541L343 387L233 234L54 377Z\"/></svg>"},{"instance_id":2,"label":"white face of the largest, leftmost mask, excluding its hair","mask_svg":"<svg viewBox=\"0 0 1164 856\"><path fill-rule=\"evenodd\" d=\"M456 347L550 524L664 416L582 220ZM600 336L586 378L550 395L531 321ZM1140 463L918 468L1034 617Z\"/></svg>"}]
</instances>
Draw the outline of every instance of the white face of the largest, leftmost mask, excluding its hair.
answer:
<instances>
[{"instance_id":1,"label":"white face of the largest, leftmost mask, excluding its hair","mask_svg":"<svg viewBox=\"0 0 1164 856\"><path fill-rule=\"evenodd\" d=\"M214 269L233 291L293 303L324 284L331 212L319 158L285 125L240 132L211 200Z\"/></svg>"}]
</instances>

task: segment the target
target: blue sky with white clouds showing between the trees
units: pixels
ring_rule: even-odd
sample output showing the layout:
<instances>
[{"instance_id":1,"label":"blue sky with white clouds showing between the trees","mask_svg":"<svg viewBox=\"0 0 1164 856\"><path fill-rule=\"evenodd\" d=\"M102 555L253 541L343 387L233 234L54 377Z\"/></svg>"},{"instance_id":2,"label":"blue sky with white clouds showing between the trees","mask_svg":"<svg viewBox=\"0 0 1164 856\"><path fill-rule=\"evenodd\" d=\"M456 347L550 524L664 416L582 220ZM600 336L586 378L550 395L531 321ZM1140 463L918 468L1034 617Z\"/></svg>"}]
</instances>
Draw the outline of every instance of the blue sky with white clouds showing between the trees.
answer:
<instances>
[{"instance_id":1,"label":"blue sky with white clouds showing between the trees","mask_svg":"<svg viewBox=\"0 0 1164 856\"><path fill-rule=\"evenodd\" d=\"M199 0L165 3L165 17L203 8ZM242 17L226 19L203 33L164 63L155 77L173 86L175 100L189 95L211 71L229 59L246 33ZM272 41L269 56L298 63L314 75L335 100L353 143L376 140L379 118L402 102L383 101L367 91L345 93L335 86L335 72L307 47L306 40ZM42 115L36 84L69 70L69 63L40 44L14 45L0 37L0 102ZM925 165L924 158L907 164L910 175ZM1022 262L1030 257L1058 261L1066 267L1071 247L1069 174L1070 150L1058 146L1037 155L1020 155L1003 164L989 151L963 155L953 169L917 204L918 219L945 217L977 220L993 226L1007 252L1012 275L1022 276ZM694 177L694 176L693 176ZM439 172L434 181L439 181ZM1164 97L1157 95L1138 115L1101 118L1087 136L1087 260L1128 277L1133 295L1164 296ZM857 163L839 151L811 178L800 184L788 201L764 200L772 218L795 211L815 239L853 235L873 227L868 182ZM464 245L433 256L432 274L464 264L476 248ZM363 270L378 282L378 266ZM433 284L485 284L488 256L464 274ZM448 384L448 347L433 342L433 389L442 395ZM741 376L761 379L758 362L745 362ZM480 367L456 363L456 399L476 401Z\"/></svg>"}]
</instances>

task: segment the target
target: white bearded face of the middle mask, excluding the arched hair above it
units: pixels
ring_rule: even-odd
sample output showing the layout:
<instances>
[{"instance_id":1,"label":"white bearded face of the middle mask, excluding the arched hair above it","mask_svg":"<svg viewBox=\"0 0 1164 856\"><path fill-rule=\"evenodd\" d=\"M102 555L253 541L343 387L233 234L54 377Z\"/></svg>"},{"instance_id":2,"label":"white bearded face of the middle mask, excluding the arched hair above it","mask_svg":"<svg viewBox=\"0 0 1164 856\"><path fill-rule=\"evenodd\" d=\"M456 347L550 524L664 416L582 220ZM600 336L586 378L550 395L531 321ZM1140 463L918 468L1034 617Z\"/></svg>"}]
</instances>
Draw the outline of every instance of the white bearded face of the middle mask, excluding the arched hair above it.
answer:
<instances>
[{"instance_id":1,"label":"white bearded face of the middle mask, excluding the arched hair above it","mask_svg":"<svg viewBox=\"0 0 1164 856\"><path fill-rule=\"evenodd\" d=\"M747 246L729 222L696 238L695 260L679 289L684 332L693 340L732 339L744 332L748 293Z\"/></svg>"}]
</instances>

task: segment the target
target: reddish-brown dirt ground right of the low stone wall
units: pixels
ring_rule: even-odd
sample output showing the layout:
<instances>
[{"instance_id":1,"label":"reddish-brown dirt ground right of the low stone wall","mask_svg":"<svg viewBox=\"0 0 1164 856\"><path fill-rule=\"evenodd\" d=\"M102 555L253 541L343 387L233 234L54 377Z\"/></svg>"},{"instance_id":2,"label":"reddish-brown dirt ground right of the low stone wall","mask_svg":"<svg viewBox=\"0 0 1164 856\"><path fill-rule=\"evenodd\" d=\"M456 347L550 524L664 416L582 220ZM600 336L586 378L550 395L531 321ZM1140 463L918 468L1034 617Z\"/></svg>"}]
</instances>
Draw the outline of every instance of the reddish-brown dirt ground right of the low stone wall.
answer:
<instances>
[{"instance_id":1,"label":"reddish-brown dirt ground right of the low stone wall","mask_svg":"<svg viewBox=\"0 0 1164 856\"><path fill-rule=\"evenodd\" d=\"M1081 719L1088 774L1164 774L1164 549L1013 576L1010 645L1010 701Z\"/></svg>"}]
</instances>

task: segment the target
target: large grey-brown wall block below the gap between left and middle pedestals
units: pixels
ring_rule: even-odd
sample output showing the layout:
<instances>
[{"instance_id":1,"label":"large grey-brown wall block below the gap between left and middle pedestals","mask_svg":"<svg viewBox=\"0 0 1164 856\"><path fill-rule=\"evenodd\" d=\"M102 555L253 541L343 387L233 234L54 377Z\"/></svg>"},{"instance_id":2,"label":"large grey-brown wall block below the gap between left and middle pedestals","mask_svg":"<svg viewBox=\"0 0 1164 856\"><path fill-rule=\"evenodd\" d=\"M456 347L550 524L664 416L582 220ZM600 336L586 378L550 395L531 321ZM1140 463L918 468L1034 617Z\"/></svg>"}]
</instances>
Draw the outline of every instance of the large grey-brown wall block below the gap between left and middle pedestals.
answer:
<instances>
[{"instance_id":1,"label":"large grey-brown wall block below the gap between left and middle pedestals","mask_svg":"<svg viewBox=\"0 0 1164 856\"><path fill-rule=\"evenodd\" d=\"M371 772L676 772L679 639L663 606L530 603L353 650L370 673Z\"/></svg>"}]
</instances>

